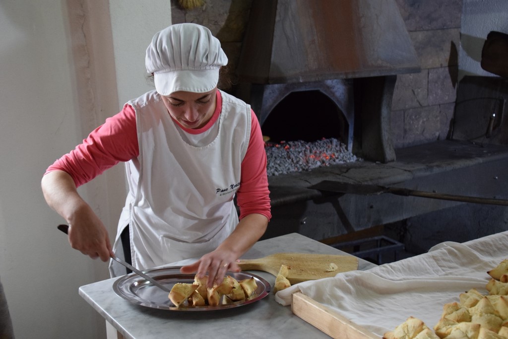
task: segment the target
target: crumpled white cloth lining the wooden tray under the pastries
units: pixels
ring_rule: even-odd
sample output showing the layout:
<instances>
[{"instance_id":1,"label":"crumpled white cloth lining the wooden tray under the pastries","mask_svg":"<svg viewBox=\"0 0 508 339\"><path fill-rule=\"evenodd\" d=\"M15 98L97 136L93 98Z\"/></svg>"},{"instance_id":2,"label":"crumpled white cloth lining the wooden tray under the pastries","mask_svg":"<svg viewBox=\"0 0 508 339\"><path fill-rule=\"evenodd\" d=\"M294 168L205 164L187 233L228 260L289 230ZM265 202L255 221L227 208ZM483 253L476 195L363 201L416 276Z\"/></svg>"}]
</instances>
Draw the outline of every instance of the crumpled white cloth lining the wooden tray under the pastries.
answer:
<instances>
[{"instance_id":1,"label":"crumpled white cloth lining the wooden tray under the pastries","mask_svg":"<svg viewBox=\"0 0 508 339\"><path fill-rule=\"evenodd\" d=\"M416 257L296 284L277 292L275 299L290 305L291 294L301 291L379 336L409 316L432 328L442 306L458 302L460 293L475 288L487 295L487 271L507 258L508 232L443 242Z\"/></svg>"}]
</instances>

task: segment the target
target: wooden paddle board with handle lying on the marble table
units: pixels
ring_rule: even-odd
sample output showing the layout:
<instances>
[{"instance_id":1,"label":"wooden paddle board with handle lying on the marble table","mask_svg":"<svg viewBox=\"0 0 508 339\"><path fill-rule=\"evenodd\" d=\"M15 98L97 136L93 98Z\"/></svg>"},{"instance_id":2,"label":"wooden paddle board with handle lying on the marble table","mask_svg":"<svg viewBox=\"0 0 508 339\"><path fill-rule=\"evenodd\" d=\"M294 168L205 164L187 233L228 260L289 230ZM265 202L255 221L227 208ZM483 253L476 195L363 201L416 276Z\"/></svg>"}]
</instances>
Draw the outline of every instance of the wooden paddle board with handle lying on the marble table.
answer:
<instances>
[{"instance_id":1,"label":"wooden paddle board with handle lying on the marble table","mask_svg":"<svg viewBox=\"0 0 508 339\"><path fill-rule=\"evenodd\" d=\"M337 267L331 267L335 264ZM358 269L358 258L348 255L275 253L259 259L241 259L242 270L265 271L277 276L281 265L289 266L287 279L291 284L335 276Z\"/></svg>"}]
</instances>

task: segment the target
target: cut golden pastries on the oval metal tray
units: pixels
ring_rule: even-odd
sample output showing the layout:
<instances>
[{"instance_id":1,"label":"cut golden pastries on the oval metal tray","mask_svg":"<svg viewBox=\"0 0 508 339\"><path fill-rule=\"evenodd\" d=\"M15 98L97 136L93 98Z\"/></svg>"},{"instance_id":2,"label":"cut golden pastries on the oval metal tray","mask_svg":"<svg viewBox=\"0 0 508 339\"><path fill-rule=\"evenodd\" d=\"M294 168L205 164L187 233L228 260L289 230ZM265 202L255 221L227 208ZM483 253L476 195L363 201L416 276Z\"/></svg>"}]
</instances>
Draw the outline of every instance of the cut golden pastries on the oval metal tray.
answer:
<instances>
[{"instance_id":1,"label":"cut golden pastries on the oval metal tray","mask_svg":"<svg viewBox=\"0 0 508 339\"><path fill-rule=\"evenodd\" d=\"M215 284L210 288L207 284L207 275L202 279L195 276L193 284L176 283L169 293L169 300L177 307L218 306L221 303L253 299L258 288L254 278L237 281L230 275L226 275L220 285Z\"/></svg>"}]
</instances>

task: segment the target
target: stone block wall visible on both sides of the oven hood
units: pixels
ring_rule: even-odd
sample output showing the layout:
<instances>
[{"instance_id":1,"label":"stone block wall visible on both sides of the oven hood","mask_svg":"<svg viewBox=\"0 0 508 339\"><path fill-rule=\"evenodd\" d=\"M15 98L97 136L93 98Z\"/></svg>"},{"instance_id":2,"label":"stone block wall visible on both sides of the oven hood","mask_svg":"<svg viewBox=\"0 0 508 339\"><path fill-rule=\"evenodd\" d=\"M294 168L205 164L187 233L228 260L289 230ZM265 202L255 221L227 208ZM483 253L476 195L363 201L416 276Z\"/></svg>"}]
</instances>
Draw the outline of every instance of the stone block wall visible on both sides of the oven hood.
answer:
<instances>
[{"instance_id":1,"label":"stone block wall visible on both sides of the oven hood","mask_svg":"<svg viewBox=\"0 0 508 339\"><path fill-rule=\"evenodd\" d=\"M251 2L204 0L203 6L186 10L172 0L172 22L195 22L210 28L223 44L234 71ZM422 68L420 73L397 77L391 125L394 147L401 148L447 137L456 98L462 0L396 3Z\"/></svg>"}]
</instances>

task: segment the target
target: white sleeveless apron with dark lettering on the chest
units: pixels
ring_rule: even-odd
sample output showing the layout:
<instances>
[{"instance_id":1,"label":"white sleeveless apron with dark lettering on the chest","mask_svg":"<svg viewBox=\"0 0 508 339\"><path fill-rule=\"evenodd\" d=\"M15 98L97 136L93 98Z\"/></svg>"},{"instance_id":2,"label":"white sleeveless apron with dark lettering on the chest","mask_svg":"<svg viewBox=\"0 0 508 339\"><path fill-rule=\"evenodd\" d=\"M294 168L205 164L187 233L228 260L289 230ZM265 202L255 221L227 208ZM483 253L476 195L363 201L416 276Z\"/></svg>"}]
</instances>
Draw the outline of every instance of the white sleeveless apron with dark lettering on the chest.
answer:
<instances>
[{"instance_id":1,"label":"white sleeveless apron with dark lettering on the chest","mask_svg":"<svg viewBox=\"0 0 508 339\"><path fill-rule=\"evenodd\" d=\"M129 194L113 246L123 257L129 225L133 265L147 269L217 248L238 224L233 198L250 136L250 106L220 92L213 127L193 135L170 117L156 91L130 101L136 112L139 157L126 163ZM218 104L218 102L217 102ZM125 269L110 262L111 276Z\"/></svg>"}]
</instances>

